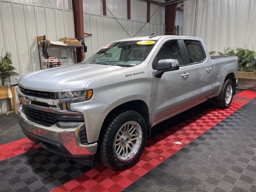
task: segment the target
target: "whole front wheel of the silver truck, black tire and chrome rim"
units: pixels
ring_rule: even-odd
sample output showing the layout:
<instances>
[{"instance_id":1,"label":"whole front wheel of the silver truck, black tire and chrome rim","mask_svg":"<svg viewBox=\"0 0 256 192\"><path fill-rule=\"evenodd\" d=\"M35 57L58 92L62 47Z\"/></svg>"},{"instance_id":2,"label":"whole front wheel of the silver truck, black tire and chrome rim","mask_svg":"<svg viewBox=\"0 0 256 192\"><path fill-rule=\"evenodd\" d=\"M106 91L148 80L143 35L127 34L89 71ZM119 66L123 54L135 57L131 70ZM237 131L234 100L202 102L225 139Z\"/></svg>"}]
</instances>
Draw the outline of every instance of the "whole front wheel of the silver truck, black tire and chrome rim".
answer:
<instances>
[{"instance_id":1,"label":"whole front wheel of the silver truck, black tire and chrome rim","mask_svg":"<svg viewBox=\"0 0 256 192\"><path fill-rule=\"evenodd\" d=\"M114 112L104 122L98 156L106 166L126 169L138 162L147 138L144 118L133 110Z\"/></svg>"}]
</instances>

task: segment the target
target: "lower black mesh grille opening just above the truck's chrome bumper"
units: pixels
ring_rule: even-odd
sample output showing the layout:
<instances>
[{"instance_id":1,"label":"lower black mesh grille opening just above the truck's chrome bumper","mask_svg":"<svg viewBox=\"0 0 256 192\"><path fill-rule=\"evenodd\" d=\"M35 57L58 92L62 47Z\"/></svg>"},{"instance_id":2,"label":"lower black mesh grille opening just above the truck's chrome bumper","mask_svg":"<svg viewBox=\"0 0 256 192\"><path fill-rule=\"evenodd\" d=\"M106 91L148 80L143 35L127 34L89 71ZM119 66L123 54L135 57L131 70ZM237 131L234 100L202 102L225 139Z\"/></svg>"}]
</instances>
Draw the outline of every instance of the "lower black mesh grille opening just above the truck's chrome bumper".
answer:
<instances>
[{"instance_id":1,"label":"lower black mesh grille opening just above the truck's chrome bumper","mask_svg":"<svg viewBox=\"0 0 256 192\"><path fill-rule=\"evenodd\" d=\"M51 126L58 122L58 115L50 112L40 111L23 106L23 112L32 122Z\"/></svg>"}]
</instances>

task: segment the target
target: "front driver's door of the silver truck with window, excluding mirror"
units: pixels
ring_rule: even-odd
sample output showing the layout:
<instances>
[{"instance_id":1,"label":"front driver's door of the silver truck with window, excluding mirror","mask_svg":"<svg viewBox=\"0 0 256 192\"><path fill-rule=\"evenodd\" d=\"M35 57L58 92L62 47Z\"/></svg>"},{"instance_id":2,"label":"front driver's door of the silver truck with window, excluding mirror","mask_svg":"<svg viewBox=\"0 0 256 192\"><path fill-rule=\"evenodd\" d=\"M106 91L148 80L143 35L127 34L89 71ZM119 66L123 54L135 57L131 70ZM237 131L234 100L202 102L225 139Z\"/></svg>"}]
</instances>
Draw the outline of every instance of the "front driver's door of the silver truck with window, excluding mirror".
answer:
<instances>
[{"instance_id":1,"label":"front driver's door of the silver truck with window, excluding mirror","mask_svg":"<svg viewBox=\"0 0 256 192\"><path fill-rule=\"evenodd\" d=\"M154 53L148 70L152 78L152 96L154 102L153 125L174 116L190 104L191 77L188 60L182 40L164 40ZM154 76L156 65L162 59L176 59L180 64L178 70L164 72L161 78ZM187 75L186 75L187 74Z\"/></svg>"}]
</instances>

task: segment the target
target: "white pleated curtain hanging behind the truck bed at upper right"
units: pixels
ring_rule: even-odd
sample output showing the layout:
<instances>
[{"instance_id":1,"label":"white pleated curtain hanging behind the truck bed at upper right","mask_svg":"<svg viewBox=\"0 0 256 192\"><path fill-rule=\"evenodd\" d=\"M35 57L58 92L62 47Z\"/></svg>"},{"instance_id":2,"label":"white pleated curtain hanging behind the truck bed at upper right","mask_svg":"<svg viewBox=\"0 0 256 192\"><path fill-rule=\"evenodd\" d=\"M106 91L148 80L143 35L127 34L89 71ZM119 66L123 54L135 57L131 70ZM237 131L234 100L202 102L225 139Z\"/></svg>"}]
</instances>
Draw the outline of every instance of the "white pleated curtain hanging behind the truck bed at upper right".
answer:
<instances>
[{"instance_id":1,"label":"white pleated curtain hanging behind the truck bed at upper right","mask_svg":"<svg viewBox=\"0 0 256 192\"><path fill-rule=\"evenodd\" d=\"M202 38L209 51L256 49L256 0L187 0L183 35Z\"/></svg>"}]
</instances>

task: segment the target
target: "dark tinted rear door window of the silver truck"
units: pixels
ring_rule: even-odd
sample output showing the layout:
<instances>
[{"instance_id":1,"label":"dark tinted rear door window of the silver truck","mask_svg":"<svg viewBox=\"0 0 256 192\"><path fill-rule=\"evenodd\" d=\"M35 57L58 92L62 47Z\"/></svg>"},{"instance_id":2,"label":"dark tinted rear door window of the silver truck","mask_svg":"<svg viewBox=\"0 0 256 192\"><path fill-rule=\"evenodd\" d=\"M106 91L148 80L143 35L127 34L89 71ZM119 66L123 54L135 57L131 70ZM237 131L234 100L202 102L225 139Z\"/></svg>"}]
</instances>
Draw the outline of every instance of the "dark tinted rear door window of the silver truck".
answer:
<instances>
[{"instance_id":1,"label":"dark tinted rear door window of the silver truck","mask_svg":"<svg viewBox=\"0 0 256 192\"><path fill-rule=\"evenodd\" d=\"M188 51L190 63L201 62L204 60L204 54L199 41L184 40Z\"/></svg>"}]
</instances>

